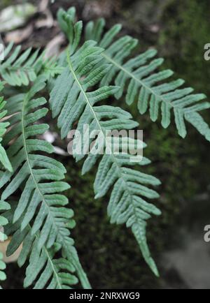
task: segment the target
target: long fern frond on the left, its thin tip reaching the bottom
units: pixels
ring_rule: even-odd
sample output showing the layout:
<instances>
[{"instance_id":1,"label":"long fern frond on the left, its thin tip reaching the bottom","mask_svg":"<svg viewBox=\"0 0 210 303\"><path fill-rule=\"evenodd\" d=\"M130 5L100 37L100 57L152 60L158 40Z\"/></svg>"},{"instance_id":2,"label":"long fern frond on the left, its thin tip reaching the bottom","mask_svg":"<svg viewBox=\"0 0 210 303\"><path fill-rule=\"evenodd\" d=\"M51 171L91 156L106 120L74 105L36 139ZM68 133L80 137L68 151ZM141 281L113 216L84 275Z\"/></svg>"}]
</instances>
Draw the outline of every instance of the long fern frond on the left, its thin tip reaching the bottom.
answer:
<instances>
[{"instance_id":1,"label":"long fern frond on the left, its thin tip reaching the bottom","mask_svg":"<svg viewBox=\"0 0 210 303\"><path fill-rule=\"evenodd\" d=\"M31 235L39 233L36 242L38 250L43 246L50 249L53 244L58 243L67 255L73 250L69 229L73 228L75 222L72 219L73 211L64 207L68 204L68 199L60 194L70 187L66 182L62 182L66 170L55 159L41 154L52 153L52 145L34 138L48 129L47 124L37 124L48 112L42 107L46 103L45 98L35 98L44 87L45 77L38 77L27 94L8 99L7 108L12 115L11 129L3 142L7 144L15 139L8 148L13 173L1 173L0 188L5 187L1 200L7 200L22 187L13 223L22 218L22 231L31 224ZM78 259L72 259L81 276L81 283L84 287L89 287Z\"/></svg>"}]
</instances>

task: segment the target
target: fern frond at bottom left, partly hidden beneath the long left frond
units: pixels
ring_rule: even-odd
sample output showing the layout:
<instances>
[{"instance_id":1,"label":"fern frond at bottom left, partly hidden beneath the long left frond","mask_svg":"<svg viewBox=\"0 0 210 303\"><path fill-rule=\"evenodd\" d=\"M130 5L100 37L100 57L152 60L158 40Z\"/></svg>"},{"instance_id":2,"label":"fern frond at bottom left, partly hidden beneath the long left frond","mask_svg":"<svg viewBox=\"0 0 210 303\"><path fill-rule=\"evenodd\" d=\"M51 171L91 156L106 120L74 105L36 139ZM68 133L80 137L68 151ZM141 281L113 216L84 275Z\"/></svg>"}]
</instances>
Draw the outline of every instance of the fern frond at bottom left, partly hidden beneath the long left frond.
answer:
<instances>
[{"instance_id":1,"label":"fern frond at bottom left, partly hidden beneath the long left frond","mask_svg":"<svg viewBox=\"0 0 210 303\"><path fill-rule=\"evenodd\" d=\"M8 221L12 221L14 209L13 205L13 208L4 214ZM21 230L21 221L22 218L15 224L9 224L6 228L8 235L12 235L7 254L12 255L22 244L18 265L22 267L29 258L24 281L25 288L33 286L34 289L64 289L76 285L78 283L75 275L76 268L73 266L72 260L68 260L64 255L61 245L54 244L50 249L43 245L41 249L38 249L39 232L32 235L29 225Z\"/></svg>"}]
</instances>

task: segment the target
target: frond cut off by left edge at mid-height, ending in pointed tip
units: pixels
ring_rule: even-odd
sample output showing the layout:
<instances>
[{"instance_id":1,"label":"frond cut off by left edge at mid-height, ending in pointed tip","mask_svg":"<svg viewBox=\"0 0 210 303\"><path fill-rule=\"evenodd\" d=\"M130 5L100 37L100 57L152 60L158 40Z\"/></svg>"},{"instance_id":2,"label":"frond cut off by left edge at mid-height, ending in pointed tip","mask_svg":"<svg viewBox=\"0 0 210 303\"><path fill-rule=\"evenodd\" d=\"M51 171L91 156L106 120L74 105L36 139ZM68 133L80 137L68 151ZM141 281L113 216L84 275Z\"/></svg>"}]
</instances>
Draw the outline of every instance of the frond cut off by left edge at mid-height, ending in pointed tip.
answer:
<instances>
[{"instance_id":1,"label":"frond cut off by left edge at mid-height, ending in pointed tip","mask_svg":"<svg viewBox=\"0 0 210 303\"><path fill-rule=\"evenodd\" d=\"M3 89L3 83L0 82L0 92L2 91L2 89ZM6 168L6 170L12 172L13 168L10 164L5 149L1 145L3 135L6 133L6 128L9 126L8 122L2 121L2 119L5 118L7 114L7 111L4 110L5 105L6 105L6 101L3 101L3 97L0 96L0 162L3 165L3 167Z\"/></svg>"}]
</instances>

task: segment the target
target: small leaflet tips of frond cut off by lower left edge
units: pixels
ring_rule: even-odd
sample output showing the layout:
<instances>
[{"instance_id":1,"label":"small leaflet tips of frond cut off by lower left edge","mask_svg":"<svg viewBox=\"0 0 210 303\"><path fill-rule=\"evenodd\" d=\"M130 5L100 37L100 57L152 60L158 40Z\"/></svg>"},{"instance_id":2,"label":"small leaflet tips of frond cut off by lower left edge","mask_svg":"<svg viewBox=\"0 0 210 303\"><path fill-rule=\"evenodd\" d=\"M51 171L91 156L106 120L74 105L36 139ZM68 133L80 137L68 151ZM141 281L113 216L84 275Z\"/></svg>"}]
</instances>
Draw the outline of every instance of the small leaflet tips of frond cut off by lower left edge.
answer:
<instances>
[{"instance_id":1,"label":"small leaflet tips of frond cut off by lower left edge","mask_svg":"<svg viewBox=\"0 0 210 303\"><path fill-rule=\"evenodd\" d=\"M5 212L8 209L10 209L10 205L0 200L0 228L3 228L3 226L6 226L6 224L8 224L8 220L1 214L2 212ZM6 235L4 234L3 230L0 229L0 242L5 241L6 239ZM3 253L0 252L0 281L6 280L6 274L3 272L3 270L6 269L6 264L3 262L2 259Z\"/></svg>"}]
</instances>

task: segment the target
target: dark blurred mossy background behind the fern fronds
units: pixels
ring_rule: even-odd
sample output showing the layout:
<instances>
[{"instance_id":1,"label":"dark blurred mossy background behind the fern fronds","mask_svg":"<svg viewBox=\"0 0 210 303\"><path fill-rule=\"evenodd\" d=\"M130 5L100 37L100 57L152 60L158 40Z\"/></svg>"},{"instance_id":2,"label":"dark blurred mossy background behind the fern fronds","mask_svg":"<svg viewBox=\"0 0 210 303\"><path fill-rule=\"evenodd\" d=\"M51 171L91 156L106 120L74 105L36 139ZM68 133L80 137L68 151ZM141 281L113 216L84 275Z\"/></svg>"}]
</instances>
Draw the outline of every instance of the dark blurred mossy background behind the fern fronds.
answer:
<instances>
[{"instance_id":1,"label":"dark blurred mossy background behind the fern fronds","mask_svg":"<svg viewBox=\"0 0 210 303\"><path fill-rule=\"evenodd\" d=\"M85 23L97 17L106 18L107 28L122 23L123 34L139 39L137 53L156 47L165 57L164 68L210 98L210 62L204 60L204 45L210 43L209 0L1 0L1 12L18 3L33 6L18 27L11 17L2 30L0 17L5 44L14 40L24 49L57 52L65 45L57 9L76 6ZM140 117L136 106L130 110L144 130L145 156L153 161L144 172L162 181L156 201L162 216L148 223L148 243L161 276L155 278L148 269L130 230L110 225L108 197L94 200L94 172L81 177L81 164L61 152L57 158L66 165L72 186L67 195L77 222L73 237L90 283L93 288L210 288L210 243L204 242L204 226L210 224L210 145L190 126L183 140L173 124L165 130L147 114ZM210 114L203 117L210 124ZM66 142L56 143L66 148ZM15 263L8 265L3 287L22 288L23 273Z\"/></svg>"}]
</instances>

